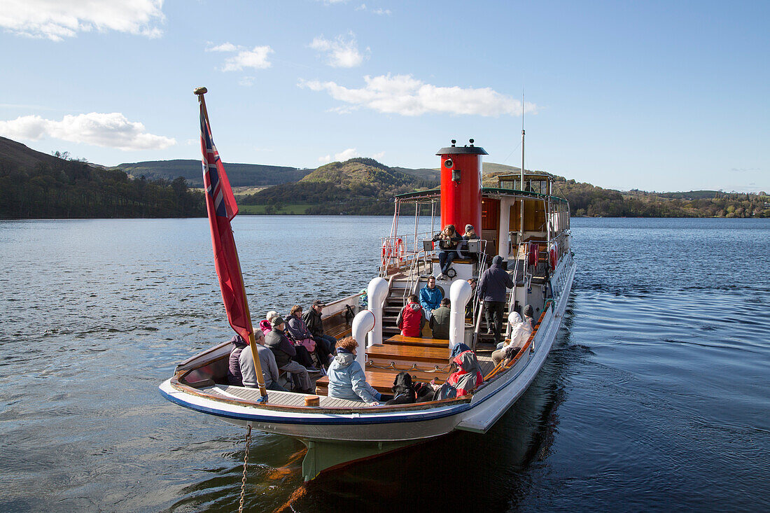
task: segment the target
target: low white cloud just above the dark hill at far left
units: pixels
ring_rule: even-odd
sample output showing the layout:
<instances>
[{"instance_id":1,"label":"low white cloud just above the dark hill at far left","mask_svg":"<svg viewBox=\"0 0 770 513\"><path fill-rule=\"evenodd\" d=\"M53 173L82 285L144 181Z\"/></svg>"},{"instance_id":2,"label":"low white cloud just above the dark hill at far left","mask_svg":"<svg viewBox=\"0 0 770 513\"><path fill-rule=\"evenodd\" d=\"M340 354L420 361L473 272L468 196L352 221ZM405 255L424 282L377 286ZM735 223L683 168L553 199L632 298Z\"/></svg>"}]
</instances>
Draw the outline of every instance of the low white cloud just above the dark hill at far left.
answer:
<instances>
[{"instance_id":1,"label":"low white cloud just above the dark hill at far left","mask_svg":"<svg viewBox=\"0 0 770 513\"><path fill-rule=\"evenodd\" d=\"M124 150L166 149L176 139L147 133L140 122L130 122L120 112L90 112L64 116L62 121L40 116L20 116L0 121L0 134L11 139L38 140L45 136Z\"/></svg>"}]
</instances>

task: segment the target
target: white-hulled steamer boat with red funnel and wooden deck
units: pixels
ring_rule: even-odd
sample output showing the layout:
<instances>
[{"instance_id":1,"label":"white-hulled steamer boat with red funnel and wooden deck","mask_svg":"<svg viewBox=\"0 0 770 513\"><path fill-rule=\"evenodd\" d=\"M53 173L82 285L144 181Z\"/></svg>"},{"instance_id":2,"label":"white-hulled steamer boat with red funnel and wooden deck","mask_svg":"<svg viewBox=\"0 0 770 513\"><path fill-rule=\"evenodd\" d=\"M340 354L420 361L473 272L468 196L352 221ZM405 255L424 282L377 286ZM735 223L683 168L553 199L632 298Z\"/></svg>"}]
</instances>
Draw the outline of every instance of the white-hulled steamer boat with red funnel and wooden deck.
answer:
<instances>
[{"instance_id":1,"label":"white-hulled steamer boat with red funnel and wooden deck","mask_svg":"<svg viewBox=\"0 0 770 513\"><path fill-rule=\"evenodd\" d=\"M522 131L523 132L523 131ZM328 468L369 458L426 441L454 430L483 434L527 390L551 350L574 277L570 248L570 213L565 199L555 196L553 176L521 173L497 177L496 187L482 186L482 156L470 145L438 151L440 188L395 198L390 233L372 248L381 254L379 272L367 289L367 308L361 294L352 294L324 310L327 333L337 338L352 334L359 342L357 358L367 381L388 394L393 378L407 371L416 381L443 383L450 374L450 351L464 343L482 367L484 383L472 394L441 401L397 406L367 406L326 396L328 378L316 381L317 406L306 395L227 384L231 349L219 344L179 364L160 385L161 394L176 404L233 424L283 434L306 444L303 461L306 481ZM414 216L414 228L400 231L402 211ZM430 211L430 217L427 216ZM420 222L430 219L430 229ZM449 277L437 287L450 297L450 339L439 340L423 330L420 337L403 337L395 319L411 293L418 293L430 276L438 277L437 249L431 236L447 224L477 228L480 239L463 246ZM411 224L411 223L410 223ZM423 231L424 230L424 231ZM468 280L480 277L494 255L500 255L514 279L507 293L506 311L525 304L534 308L534 331L516 357L495 366L481 310ZM470 303L470 307L467 305ZM510 329L510 328L509 328ZM362 350L362 347L366 350Z\"/></svg>"}]
</instances>

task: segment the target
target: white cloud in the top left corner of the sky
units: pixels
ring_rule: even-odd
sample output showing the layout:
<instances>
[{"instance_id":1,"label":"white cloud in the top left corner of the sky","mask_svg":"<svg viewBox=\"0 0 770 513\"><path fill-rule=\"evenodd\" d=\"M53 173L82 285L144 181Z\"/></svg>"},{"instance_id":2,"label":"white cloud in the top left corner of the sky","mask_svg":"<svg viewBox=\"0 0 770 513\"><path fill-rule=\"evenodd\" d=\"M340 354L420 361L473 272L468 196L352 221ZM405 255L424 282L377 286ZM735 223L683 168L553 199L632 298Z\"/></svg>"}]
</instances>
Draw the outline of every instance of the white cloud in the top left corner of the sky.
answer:
<instances>
[{"instance_id":1,"label":"white cloud in the top left corner of the sky","mask_svg":"<svg viewBox=\"0 0 770 513\"><path fill-rule=\"evenodd\" d=\"M0 27L35 38L62 41L98 30L159 37L165 20L162 0L5 0Z\"/></svg>"}]
</instances>

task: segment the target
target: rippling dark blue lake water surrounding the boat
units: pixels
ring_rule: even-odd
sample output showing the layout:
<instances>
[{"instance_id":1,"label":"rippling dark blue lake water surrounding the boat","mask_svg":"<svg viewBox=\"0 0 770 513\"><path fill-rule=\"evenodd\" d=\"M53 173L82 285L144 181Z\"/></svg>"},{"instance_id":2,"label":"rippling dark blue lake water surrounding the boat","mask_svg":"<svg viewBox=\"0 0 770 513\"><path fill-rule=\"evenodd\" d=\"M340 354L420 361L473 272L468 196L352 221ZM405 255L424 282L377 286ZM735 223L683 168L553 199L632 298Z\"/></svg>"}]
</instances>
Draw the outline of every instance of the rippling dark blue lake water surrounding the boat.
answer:
<instances>
[{"instance_id":1,"label":"rippling dark blue lake water surrounding the boat","mask_svg":"<svg viewBox=\"0 0 770 513\"><path fill-rule=\"evenodd\" d=\"M366 286L386 217L239 216L255 319ZM554 350L486 435L301 487L255 432L274 511L768 511L770 220L575 219ZM227 340L207 220L0 221L0 511L235 511L242 428L158 384Z\"/></svg>"}]
</instances>

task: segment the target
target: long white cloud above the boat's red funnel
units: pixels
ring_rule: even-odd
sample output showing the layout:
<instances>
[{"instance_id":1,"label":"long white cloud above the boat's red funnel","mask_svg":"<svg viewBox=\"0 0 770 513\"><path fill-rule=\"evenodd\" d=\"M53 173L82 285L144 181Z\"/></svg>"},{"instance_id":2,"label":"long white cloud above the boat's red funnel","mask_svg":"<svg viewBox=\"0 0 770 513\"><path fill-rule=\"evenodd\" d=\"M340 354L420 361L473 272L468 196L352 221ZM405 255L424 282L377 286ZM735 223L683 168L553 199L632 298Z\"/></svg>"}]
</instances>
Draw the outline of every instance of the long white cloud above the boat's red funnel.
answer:
<instances>
[{"instance_id":1,"label":"long white cloud above the boat's red funnel","mask_svg":"<svg viewBox=\"0 0 770 513\"><path fill-rule=\"evenodd\" d=\"M377 112L420 116L422 114L467 114L475 116L519 116L521 101L488 87L474 89L458 86L432 86L412 75L380 75L363 77L367 85L349 89L336 82L300 80L299 86L313 91L326 91L332 98L354 107L368 107ZM526 112L537 112L527 102Z\"/></svg>"}]
</instances>

